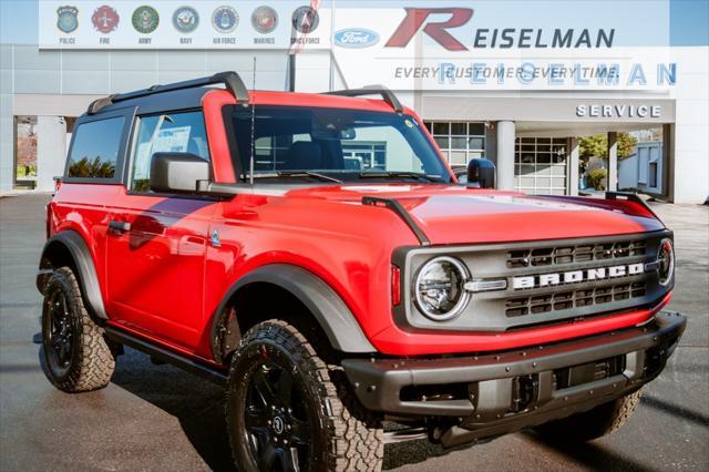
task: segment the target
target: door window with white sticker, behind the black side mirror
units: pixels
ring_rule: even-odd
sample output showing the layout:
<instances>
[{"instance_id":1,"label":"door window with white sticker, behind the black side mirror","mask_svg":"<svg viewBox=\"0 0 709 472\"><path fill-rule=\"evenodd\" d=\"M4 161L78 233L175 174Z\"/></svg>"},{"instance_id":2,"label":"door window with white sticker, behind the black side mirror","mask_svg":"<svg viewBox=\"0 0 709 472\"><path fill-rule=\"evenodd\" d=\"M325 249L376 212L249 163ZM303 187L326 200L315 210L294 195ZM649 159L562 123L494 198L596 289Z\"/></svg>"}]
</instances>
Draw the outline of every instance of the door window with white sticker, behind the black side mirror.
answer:
<instances>
[{"instance_id":1,"label":"door window with white sticker, behind the black side mirror","mask_svg":"<svg viewBox=\"0 0 709 472\"><path fill-rule=\"evenodd\" d=\"M191 153L209 161L202 112L143 116L133 151L130 189L150 192L151 160L155 153Z\"/></svg>"}]
</instances>

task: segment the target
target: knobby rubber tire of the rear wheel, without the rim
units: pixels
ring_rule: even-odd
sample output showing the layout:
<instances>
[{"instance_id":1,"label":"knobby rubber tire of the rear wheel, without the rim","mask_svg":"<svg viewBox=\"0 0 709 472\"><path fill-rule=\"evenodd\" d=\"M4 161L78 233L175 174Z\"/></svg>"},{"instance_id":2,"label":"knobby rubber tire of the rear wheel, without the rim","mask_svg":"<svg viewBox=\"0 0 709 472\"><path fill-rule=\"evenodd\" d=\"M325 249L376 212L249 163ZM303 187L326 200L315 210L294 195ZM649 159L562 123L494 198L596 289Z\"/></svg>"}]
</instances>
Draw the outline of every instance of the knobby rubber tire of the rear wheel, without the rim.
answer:
<instances>
[{"instance_id":1,"label":"knobby rubber tire of the rear wheel, without the rim","mask_svg":"<svg viewBox=\"0 0 709 472\"><path fill-rule=\"evenodd\" d=\"M68 326L72 335L71 361L69 366L58 366L50 349L50 304L52 295L60 291L66 301ZM42 347L45 374L60 390L83 392L96 390L109 384L115 359L104 338L103 329L93 322L84 307L81 288L69 267L61 267L52 274L44 290L42 308Z\"/></svg>"}]
</instances>

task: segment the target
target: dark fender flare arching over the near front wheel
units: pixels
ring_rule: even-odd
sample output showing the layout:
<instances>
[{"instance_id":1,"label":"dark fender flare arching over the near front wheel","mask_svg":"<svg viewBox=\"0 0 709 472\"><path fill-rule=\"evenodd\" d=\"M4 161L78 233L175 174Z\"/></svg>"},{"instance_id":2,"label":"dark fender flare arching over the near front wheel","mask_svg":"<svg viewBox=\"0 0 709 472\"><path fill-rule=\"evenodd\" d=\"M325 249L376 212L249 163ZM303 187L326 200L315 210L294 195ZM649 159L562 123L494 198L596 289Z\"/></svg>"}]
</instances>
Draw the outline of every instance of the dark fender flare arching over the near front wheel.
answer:
<instances>
[{"instance_id":1,"label":"dark fender flare arching over the near front wheel","mask_svg":"<svg viewBox=\"0 0 709 472\"><path fill-rule=\"evenodd\" d=\"M219 304L212 325L212 349L215 360L223 360L223 353L218 349L219 342L215 341L222 324L228 322L225 319L228 316L227 305L239 289L254 283L276 285L300 300L318 321L335 349L352 353L377 351L342 298L320 277L290 264L269 264L234 283ZM232 348L235 347L232 345Z\"/></svg>"}]
</instances>

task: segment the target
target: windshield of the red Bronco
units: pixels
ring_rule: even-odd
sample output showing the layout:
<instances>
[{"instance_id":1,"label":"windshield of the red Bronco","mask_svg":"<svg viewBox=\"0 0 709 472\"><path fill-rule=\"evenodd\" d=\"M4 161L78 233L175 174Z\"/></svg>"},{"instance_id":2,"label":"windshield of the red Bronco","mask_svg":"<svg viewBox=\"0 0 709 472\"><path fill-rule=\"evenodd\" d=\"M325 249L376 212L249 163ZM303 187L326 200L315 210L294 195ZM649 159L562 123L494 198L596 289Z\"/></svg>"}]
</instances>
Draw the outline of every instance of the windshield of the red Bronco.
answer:
<instances>
[{"instance_id":1,"label":"windshield of the red Bronco","mask_svg":"<svg viewBox=\"0 0 709 472\"><path fill-rule=\"evenodd\" d=\"M251 109L234 110L240 174L246 178L251 155ZM253 127L254 178L259 182L451 182L435 148L408 115L257 105Z\"/></svg>"}]
</instances>

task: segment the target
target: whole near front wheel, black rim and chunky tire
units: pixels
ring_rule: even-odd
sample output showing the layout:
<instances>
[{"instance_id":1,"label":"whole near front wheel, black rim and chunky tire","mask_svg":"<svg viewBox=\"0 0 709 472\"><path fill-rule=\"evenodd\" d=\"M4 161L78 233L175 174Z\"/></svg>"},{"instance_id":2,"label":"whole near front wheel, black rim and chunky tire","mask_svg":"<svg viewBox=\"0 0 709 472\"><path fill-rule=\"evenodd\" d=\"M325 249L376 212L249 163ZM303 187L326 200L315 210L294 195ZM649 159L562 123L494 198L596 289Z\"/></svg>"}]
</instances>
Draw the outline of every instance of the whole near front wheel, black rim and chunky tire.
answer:
<instances>
[{"instance_id":1,"label":"whole near front wheel, black rim and chunky tire","mask_svg":"<svg viewBox=\"0 0 709 472\"><path fill-rule=\"evenodd\" d=\"M318 339L307 325L300 329ZM226 389L227 431L238 470L381 470L381 420L362 409L341 367L323 360L327 349L279 319L244 334Z\"/></svg>"}]
</instances>

